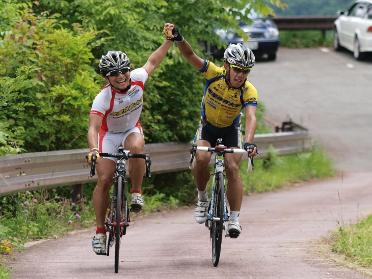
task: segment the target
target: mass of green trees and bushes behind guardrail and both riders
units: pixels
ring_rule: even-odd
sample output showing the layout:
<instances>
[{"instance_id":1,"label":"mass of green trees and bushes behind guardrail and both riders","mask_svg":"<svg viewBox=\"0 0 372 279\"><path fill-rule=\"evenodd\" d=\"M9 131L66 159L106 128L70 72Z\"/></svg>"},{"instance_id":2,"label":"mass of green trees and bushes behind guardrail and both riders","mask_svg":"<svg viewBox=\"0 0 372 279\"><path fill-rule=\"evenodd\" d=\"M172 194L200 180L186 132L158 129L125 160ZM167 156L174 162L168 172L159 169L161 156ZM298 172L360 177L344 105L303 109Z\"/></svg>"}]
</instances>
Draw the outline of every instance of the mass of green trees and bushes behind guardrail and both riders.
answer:
<instances>
[{"instance_id":1,"label":"mass of green trees and bushes behind guardrail and both riders","mask_svg":"<svg viewBox=\"0 0 372 279\"><path fill-rule=\"evenodd\" d=\"M13 104L28 104L23 110L7 109L8 136L29 152L86 147L91 103L104 86L96 71L102 54L122 50L133 68L141 67L164 41L164 23L173 22L205 57L199 42L221 44L214 29L238 30L235 19L246 18L247 4L262 14L283 7L277 0L4 0L0 68L8 81L0 78L0 85L22 78L16 75L21 67L29 67L24 82L32 85L8 92L17 96ZM146 142L190 141L203 87L200 73L174 44L146 83L141 118Z\"/></svg>"}]
</instances>

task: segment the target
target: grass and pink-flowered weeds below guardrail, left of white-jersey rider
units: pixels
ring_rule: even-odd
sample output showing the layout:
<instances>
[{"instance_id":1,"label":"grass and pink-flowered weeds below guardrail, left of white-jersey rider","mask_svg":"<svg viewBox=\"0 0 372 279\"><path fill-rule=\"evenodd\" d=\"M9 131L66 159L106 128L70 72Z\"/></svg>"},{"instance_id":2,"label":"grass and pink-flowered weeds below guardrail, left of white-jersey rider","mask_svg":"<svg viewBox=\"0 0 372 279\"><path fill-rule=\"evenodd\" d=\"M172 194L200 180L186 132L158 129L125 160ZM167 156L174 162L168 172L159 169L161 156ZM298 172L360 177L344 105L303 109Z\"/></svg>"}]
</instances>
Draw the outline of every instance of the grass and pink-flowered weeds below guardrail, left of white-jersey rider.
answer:
<instances>
[{"instance_id":1,"label":"grass and pink-flowered weeds below guardrail, left of white-jersey rider","mask_svg":"<svg viewBox=\"0 0 372 279\"><path fill-rule=\"evenodd\" d=\"M81 209L60 196L58 189L21 192L0 199L0 238L21 246L29 240L91 226L93 216L91 203Z\"/></svg>"}]
</instances>

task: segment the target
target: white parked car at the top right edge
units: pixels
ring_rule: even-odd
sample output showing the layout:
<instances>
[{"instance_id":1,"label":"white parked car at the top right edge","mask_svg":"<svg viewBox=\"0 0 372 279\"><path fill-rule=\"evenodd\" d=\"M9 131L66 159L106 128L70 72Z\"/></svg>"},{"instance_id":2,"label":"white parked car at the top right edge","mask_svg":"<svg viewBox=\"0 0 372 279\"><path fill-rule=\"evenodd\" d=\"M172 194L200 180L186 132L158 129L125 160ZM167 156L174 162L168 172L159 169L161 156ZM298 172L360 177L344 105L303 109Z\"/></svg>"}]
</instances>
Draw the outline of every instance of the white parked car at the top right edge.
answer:
<instances>
[{"instance_id":1,"label":"white parked car at the top right edge","mask_svg":"<svg viewBox=\"0 0 372 279\"><path fill-rule=\"evenodd\" d=\"M357 0L334 21L333 47L353 51L357 60L372 51L372 0Z\"/></svg>"}]
</instances>

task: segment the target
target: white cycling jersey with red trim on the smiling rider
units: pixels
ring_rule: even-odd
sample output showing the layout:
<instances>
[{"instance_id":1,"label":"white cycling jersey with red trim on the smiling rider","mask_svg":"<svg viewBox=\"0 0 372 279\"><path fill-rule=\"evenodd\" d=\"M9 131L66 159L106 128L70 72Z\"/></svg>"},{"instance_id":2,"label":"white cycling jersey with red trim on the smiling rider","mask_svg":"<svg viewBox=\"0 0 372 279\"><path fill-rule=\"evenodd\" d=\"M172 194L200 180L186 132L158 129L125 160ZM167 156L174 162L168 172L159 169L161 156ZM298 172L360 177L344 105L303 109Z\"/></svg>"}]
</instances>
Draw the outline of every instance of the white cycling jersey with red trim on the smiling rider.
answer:
<instances>
[{"instance_id":1,"label":"white cycling jersey with red trim on the smiling rider","mask_svg":"<svg viewBox=\"0 0 372 279\"><path fill-rule=\"evenodd\" d=\"M124 133L139 125L142 111L144 84L148 73L143 68L130 72L128 91L118 92L105 86L93 100L91 114L103 118L101 129L112 133Z\"/></svg>"}]
</instances>

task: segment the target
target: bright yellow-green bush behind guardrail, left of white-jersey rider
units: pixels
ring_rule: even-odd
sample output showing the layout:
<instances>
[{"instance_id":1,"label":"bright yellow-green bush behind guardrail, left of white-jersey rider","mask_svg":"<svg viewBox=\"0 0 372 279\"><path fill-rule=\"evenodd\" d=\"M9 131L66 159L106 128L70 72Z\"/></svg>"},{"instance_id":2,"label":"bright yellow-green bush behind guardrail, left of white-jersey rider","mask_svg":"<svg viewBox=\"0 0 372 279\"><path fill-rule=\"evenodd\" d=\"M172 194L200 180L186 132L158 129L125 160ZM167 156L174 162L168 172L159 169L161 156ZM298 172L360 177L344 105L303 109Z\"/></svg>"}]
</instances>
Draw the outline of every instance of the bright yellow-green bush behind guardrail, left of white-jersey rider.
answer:
<instances>
[{"instance_id":1,"label":"bright yellow-green bush behind guardrail, left of white-jersey rider","mask_svg":"<svg viewBox=\"0 0 372 279\"><path fill-rule=\"evenodd\" d=\"M87 115L99 91L89 66L95 33L61 29L61 21L24 10L0 47L7 128L29 152L86 147Z\"/></svg>"}]
</instances>

